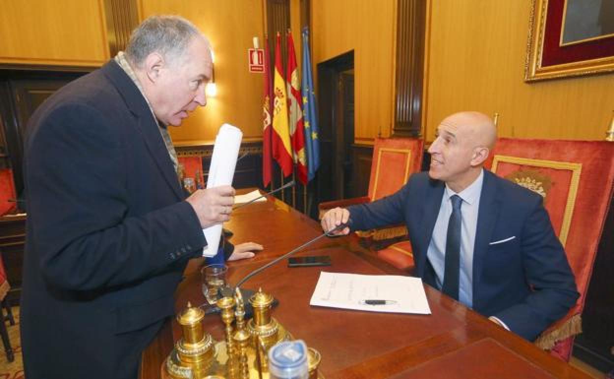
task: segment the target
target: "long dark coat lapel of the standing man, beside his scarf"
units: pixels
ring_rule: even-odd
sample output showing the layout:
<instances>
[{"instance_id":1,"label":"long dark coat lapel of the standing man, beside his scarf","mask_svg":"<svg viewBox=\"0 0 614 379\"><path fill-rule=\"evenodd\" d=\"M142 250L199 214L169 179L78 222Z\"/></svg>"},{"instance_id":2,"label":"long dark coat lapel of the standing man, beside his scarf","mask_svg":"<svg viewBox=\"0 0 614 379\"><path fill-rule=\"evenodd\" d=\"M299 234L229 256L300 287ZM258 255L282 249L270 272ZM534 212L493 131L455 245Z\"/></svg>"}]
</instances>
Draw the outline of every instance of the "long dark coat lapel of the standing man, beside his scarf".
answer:
<instances>
[{"instance_id":1,"label":"long dark coat lapel of the standing man, beside his scarf","mask_svg":"<svg viewBox=\"0 0 614 379\"><path fill-rule=\"evenodd\" d=\"M139 88L134 85L130 77L120 68L115 61L109 61L102 68L104 73L113 82L117 90L122 95L130 112L136 117L136 128L145 140L147 149L160 169L163 177L168 185L177 195L178 200L183 200L185 195L177 179L173 162L168 155L168 149L162 139L159 127L153 119L153 115L149 110L149 105L139 91Z\"/></svg>"}]
</instances>

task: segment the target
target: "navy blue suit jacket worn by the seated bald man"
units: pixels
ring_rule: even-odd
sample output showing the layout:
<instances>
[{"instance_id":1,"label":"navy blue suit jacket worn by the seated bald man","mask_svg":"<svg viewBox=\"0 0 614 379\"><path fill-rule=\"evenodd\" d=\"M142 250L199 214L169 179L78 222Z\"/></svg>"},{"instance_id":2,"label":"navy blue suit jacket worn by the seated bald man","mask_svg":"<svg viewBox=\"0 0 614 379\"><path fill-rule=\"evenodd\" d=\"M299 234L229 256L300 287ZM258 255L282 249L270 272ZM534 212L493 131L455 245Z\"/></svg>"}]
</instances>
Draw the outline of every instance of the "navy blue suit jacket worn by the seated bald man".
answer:
<instances>
[{"instance_id":1,"label":"navy blue suit jacket worn by the seated bald man","mask_svg":"<svg viewBox=\"0 0 614 379\"><path fill-rule=\"evenodd\" d=\"M349 207L352 229L405 222L416 275L435 287L427 249L445 184L428 173L411 176L393 195ZM491 244L507 238L503 243ZM473 249L473 309L496 316L534 340L578 298L575 279L543 208L542 197L484 170Z\"/></svg>"}]
</instances>

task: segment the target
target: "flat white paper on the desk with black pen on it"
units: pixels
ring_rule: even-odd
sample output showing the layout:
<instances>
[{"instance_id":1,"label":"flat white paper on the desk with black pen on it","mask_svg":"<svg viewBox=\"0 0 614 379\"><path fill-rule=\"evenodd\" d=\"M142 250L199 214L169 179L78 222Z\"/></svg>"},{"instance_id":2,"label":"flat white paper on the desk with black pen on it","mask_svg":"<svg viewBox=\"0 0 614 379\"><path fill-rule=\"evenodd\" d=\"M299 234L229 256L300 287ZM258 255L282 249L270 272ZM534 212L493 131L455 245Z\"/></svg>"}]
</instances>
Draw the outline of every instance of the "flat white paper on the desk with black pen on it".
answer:
<instances>
[{"instance_id":1,"label":"flat white paper on the desk with black pen on it","mask_svg":"<svg viewBox=\"0 0 614 379\"><path fill-rule=\"evenodd\" d=\"M394 304L365 305L362 300L394 300ZM430 315L420 278L321 272L310 305L374 312Z\"/></svg>"}]
</instances>

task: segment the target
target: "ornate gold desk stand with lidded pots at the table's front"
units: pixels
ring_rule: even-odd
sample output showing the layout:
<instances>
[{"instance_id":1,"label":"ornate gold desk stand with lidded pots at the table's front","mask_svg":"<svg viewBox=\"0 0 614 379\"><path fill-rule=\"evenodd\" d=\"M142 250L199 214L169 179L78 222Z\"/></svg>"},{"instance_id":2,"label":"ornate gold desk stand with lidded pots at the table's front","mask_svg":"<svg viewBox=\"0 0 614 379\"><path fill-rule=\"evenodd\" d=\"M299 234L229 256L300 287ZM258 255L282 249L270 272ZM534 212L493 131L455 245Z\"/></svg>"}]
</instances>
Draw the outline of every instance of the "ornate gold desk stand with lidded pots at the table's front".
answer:
<instances>
[{"instance_id":1,"label":"ornate gold desk stand with lidded pots at the table's front","mask_svg":"<svg viewBox=\"0 0 614 379\"><path fill-rule=\"evenodd\" d=\"M268 351L292 335L271 316L273 296L258 290L249 302L254 318L245 319L241 292L217 300L225 341L203 329L204 311L187 303L177 315L182 337L161 366L163 379L268 379ZM235 327L233 327L233 323ZM317 368L320 353L309 348L309 379L324 379Z\"/></svg>"}]
</instances>

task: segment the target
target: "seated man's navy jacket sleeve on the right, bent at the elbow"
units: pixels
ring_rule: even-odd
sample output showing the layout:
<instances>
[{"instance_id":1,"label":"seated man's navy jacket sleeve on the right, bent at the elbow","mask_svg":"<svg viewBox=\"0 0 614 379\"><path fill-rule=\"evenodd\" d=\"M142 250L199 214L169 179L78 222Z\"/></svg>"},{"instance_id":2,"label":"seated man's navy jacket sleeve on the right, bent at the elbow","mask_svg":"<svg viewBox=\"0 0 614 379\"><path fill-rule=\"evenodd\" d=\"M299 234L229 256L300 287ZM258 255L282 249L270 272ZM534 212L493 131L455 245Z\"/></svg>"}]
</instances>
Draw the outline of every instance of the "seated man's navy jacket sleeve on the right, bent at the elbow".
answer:
<instances>
[{"instance_id":1,"label":"seated man's navy jacket sleeve on the right, bent at the elbow","mask_svg":"<svg viewBox=\"0 0 614 379\"><path fill-rule=\"evenodd\" d=\"M565 251L554 235L541 197L524 223L521 249L526 280L533 291L524 302L494 316L516 334L535 340L546 327L562 318L579 296Z\"/></svg>"}]
</instances>

